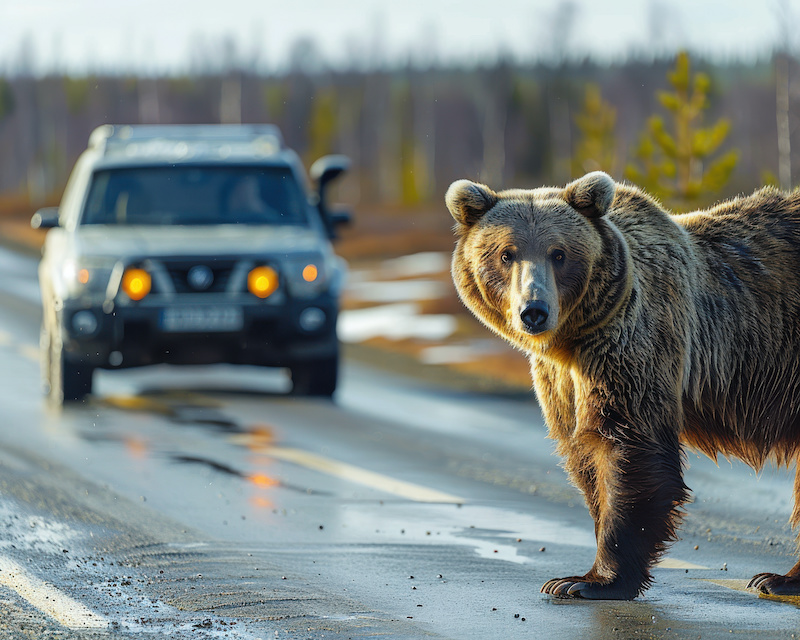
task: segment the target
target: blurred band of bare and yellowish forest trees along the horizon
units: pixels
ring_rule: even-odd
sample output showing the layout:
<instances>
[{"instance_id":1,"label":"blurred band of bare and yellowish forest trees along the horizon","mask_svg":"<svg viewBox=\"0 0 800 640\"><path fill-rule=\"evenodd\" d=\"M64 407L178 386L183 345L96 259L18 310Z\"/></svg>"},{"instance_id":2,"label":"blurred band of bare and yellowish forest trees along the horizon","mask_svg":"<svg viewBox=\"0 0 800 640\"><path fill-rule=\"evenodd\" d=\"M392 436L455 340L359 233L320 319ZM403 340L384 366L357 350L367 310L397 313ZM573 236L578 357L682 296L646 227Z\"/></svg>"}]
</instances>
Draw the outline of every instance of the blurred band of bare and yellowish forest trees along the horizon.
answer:
<instances>
[{"instance_id":1,"label":"blurred band of bare and yellowish forest trees along the horizon","mask_svg":"<svg viewBox=\"0 0 800 640\"><path fill-rule=\"evenodd\" d=\"M348 155L353 171L339 195L368 215L441 208L448 185L463 177L494 188L561 185L593 169L641 178L653 116L676 126L664 99L675 66L675 57L606 65L500 59L334 71L300 50L274 75L245 65L163 76L22 69L0 76L0 210L57 202L89 133L103 123L275 123L308 164ZM697 205L765 182L792 186L797 62L781 54L728 63L695 56L690 74L690 82L705 79L694 126L722 123L714 151L736 155L729 179Z\"/></svg>"}]
</instances>

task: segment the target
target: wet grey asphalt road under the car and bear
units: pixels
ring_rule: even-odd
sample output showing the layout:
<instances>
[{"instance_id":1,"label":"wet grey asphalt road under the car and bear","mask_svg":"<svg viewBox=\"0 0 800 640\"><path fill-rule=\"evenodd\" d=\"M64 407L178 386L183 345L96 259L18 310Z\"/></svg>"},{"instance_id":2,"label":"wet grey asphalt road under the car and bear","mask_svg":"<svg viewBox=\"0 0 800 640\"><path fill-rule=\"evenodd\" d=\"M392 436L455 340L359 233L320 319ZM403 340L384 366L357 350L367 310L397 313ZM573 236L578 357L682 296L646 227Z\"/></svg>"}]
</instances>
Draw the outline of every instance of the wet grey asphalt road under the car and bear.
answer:
<instances>
[{"instance_id":1,"label":"wet grey asphalt road under the car and bear","mask_svg":"<svg viewBox=\"0 0 800 640\"><path fill-rule=\"evenodd\" d=\"M353 359L334 402L281 372L102 372L40 393L33 258L0 250L0 637L793 638L792 478L688 456L682 540L634 602L554 600L593 525L532 398ZM442 373L442 376L446 376Z\"/></svg>"}]
</instances>

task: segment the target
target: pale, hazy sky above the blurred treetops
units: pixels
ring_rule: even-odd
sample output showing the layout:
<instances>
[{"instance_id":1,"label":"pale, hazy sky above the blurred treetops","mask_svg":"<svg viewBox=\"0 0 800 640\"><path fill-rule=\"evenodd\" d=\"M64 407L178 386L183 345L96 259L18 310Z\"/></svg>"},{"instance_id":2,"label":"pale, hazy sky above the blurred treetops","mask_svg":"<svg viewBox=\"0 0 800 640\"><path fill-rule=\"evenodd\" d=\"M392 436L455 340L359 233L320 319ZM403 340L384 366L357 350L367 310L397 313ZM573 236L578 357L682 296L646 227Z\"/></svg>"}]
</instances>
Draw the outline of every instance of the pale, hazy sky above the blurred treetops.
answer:
<instances>
[{"instance_id":1,"label":"pale, hazy sky above the blurred treetops","mask_svg":"<svg viewBox=\"0 0 800 640\"><path fill-rule=\"evenodd\" d=\"M800 0L0 0L0 73L613 61L681 48L746 59L793 46L797 16Z\"/></svg>"}]
</instances>

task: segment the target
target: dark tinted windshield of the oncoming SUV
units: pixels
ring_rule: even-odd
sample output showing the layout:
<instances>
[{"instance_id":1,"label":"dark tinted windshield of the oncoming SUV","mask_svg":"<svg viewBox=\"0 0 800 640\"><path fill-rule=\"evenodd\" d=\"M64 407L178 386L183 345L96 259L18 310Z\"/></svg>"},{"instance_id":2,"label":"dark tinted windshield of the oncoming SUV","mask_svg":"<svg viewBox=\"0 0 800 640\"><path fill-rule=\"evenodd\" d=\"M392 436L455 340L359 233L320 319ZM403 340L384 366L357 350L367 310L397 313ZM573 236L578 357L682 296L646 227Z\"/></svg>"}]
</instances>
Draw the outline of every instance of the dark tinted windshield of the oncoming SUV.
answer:
<instances>
[{"instance_id":1,"label":"dark tinted windshield of the oncoming SUV","mask_svg":"<svg viewBox=\"0 0 800 640\"><path fill-rule=\"evenodd\" d=\"M284 167L167 166L95 172L81 224L307 225Z\"/></svg>"}]
</instances>

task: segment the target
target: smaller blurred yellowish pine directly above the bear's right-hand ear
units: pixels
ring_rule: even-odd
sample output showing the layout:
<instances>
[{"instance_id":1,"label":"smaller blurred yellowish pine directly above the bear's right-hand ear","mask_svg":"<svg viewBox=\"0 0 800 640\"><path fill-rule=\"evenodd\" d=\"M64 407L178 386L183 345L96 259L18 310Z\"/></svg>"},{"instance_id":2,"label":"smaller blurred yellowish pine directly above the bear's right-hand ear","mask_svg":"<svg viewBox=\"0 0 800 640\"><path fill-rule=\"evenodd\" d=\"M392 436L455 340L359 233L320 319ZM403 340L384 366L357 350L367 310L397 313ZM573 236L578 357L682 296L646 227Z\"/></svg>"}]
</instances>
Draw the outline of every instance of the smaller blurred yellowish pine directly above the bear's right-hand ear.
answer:
<instances>
[{"instance_id":1,"label":"smaller blurred yellowish pine directly above the bear's right-hand ear","mask_svg":"<svg viewBox=\"0 0 800 640\"><path fill-rule=\"evenodd\" d=\"M572 155L574 178L590 171L614 173L616 124L617 110L603 100L600 87L596 84L587 85L583 110L575 116L575 125L581 136Z\"/></svg>"}]
</instances>

